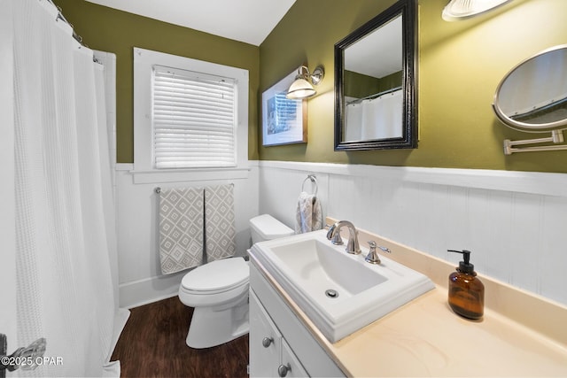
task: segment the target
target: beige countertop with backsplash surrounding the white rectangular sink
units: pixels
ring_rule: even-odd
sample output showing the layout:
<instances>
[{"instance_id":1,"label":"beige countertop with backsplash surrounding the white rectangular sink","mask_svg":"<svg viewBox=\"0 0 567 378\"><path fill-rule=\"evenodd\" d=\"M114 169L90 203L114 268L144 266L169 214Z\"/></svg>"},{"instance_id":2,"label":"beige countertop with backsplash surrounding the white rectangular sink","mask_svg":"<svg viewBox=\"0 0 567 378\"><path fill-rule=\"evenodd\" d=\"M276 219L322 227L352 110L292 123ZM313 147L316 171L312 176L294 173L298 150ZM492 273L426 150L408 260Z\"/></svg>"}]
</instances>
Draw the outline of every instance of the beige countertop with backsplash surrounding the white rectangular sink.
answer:
<instances>
[{"instance_id":1,"label":"beige countertop with backsplash surrounding the white rectangular sink","mask_svg":"<svg viewBox=\"0 0 567 378\"><path fill-rule=\"evenodd\" d=\"M454 266L359 231L361 244L372 239L390 248L388 258L428 275L436 289L337 343L322 336L252 257L347 376L567 377L567 307L479 275L485 316L466 320L447 305L447 277Z\"/></svg>"}]
</instances>

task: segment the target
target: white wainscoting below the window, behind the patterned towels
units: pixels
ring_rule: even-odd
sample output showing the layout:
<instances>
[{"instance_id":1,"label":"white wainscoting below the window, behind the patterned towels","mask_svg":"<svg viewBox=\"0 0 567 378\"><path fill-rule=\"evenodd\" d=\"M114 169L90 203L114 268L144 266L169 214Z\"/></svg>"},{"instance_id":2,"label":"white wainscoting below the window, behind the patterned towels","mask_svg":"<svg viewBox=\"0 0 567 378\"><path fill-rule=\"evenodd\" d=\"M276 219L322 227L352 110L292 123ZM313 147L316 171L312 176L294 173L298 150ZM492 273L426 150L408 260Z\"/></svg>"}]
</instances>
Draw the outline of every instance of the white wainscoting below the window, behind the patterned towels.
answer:
<instances>
[{"instance_id":1,"label":"white wainscoting below the window, behind the patterned towels","mask_svg":"<svg viewBox=\"0 0 567 378\"><path fill-rule=\"evenodd\" d=\"M248 220L258 214L258 168L252 166L245 178L198 181L136 183L131 164L118 164L116 204L119 251L120 307L132 308L177 295L187 271L161 274L159 265L158 195L155 188L180 188L234 183L237 256L250 248Z\"/></svg>"}]
</instances>

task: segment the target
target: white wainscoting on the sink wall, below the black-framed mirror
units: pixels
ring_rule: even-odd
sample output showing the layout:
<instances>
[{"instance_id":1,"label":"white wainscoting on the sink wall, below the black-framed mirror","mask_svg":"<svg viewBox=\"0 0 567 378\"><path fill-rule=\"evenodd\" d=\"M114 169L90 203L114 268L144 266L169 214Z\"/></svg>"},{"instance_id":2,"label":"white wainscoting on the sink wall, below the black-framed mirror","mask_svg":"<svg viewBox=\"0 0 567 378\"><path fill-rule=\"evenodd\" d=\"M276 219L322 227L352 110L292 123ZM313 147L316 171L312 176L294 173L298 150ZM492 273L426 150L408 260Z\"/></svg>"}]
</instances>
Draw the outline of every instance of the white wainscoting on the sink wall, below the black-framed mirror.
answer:
<instances>
[{"instance_id":1,"label":"white wainscoting on the sink wall, below the black-framed mirror","mask_svg":"<svg viewBox=\"0 0 567 378\"><path fill-rule=\"evenodd\" d=\"M567 305L567 174L260 161L260 213L288 226L315 174L323 215ZM353 277L356 279L356 277Z\"/></svg>"}]
</instances>

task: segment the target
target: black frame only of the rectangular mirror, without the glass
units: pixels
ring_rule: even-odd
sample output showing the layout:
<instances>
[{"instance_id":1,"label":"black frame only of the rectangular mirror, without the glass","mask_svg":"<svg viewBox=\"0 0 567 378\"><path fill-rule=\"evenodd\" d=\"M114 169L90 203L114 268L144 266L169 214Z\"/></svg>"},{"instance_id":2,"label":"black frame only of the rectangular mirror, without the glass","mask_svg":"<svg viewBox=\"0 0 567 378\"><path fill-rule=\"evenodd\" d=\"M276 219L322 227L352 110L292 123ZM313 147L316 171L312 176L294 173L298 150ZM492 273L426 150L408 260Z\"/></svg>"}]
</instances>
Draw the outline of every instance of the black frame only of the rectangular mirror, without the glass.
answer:
<instances>
[{"instance_id":1,"label":"black frame only of the rectangular mirror, without the glass","mask_svg":"<svg viewBox=\"0 0 567 378\"><path fill-rule=\"evenodd\" d=\"M401 136L345 141L345 50L393 19L402 19ZM417 147L416 102L416 1L400 0L335 44L335 150L386 150Z\"/></svg>"}]
</instances>

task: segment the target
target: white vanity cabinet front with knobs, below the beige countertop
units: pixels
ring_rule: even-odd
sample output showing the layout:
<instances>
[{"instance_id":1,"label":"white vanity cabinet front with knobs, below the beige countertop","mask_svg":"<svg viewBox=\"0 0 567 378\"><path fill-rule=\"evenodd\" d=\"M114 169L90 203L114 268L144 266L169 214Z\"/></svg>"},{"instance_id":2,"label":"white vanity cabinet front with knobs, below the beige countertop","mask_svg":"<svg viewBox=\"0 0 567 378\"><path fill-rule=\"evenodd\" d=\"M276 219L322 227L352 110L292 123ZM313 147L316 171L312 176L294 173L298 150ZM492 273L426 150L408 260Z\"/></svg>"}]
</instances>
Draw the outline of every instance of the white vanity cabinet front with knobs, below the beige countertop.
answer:
<instances>
[{"instance_id":1,"label":"white vanity cabinet front with knobs, below the beige countertop","mask_svg":"<svg viewBox=\"0 0 567 378\"><path fill-rule=\"evenodd\" d=\"M250 376L345 376L283 302L250 266Z\"/></svg>"}]
</instances>

